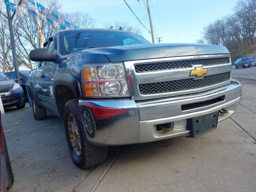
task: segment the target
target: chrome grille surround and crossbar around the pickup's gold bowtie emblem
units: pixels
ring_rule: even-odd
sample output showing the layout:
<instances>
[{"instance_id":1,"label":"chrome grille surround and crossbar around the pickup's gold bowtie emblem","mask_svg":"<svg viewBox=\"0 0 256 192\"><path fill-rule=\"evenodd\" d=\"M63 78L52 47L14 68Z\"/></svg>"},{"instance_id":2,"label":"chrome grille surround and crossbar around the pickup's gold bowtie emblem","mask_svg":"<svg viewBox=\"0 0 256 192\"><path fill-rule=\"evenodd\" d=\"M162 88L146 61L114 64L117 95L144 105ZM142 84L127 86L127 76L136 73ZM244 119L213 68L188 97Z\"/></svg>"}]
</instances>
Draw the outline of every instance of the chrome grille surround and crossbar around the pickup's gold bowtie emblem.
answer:
<instances>
[{"instance_id":1,"label":"chrome grille surround and crossbar around the pickup's gold bowtie emblem","mask_svg":"<svg viewBox=\"0 0 256 192\"><path fill-rule=\"evenodd\" d=\"M204 65L202 63L198 65L198 63L195 62L197 60L201 60L201 62L203 62ZM143 73L136 71L136 66L138 65L151 65L151 64L155 65L156 63L171 63L176 61L182 61L183 63L184 62L193 63L193 65L186 68L171 68L171 69L168 68L164 70L157 69L155 71L146 71ZM227 61L228 63L225 63ZM231 83L232 66L230 62L230 54L192 55L192 56L182 56L182 57L172 57L172 58L125 61L124 66L126 69L127 79L129 81L131 97L133 100L137 100L137 101L172 97L172 96L184 95L184 94L188 95L192 93L198 93L198 92L215 89L217 87L221 87ZM204 74L203 77L190 76L191 70L195 70L196 67L197 68L202 67L203 69L207 69L207 74ZM221 81L215 81L214 83L207 82L206 84L201 84L194 87L187 85L185 87L181 87L180 89L178 89L178 87L176 89L173 89L172 87L170 89L165 88L165 90L160 90L160 91L141 90L143 84L152 86L152 85L157 85L153 83L173 82L173 81L201 82L203 81L201 79L205 79L205 78L210 79L211 77L208 77L208 76L213 76L218 74L229 74L229 76L226 76L226 79L223 78ZM189 79L189 80L186 80L186 79Z\"/></svg>"}]
</instances>

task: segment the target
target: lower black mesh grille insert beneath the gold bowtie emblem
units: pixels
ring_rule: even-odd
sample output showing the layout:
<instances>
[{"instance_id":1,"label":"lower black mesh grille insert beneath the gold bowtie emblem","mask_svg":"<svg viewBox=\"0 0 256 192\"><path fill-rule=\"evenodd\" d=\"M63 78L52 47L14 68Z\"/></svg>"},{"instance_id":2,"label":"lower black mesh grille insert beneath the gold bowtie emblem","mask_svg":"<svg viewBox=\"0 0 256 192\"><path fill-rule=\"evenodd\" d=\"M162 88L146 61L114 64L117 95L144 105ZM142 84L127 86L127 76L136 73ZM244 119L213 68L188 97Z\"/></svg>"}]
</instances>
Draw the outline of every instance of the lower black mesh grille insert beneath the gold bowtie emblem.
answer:
<instances>
[{"instance_id":1,"label":"lower black mesh grille insert beneath the gold bowtie emblem","mask_svg":"<svg viewBox=\"0 0 256 192\"><path fill-rule=\"evenodd\" d=\"M190 90L226 82L229 81L229 79L230 72L227 72L205 76L203 79L197 80L194 78L187 78L174 81L140 84L139 91L141 94L159 94L173 91Z\"/></svg>"}]
</instances>

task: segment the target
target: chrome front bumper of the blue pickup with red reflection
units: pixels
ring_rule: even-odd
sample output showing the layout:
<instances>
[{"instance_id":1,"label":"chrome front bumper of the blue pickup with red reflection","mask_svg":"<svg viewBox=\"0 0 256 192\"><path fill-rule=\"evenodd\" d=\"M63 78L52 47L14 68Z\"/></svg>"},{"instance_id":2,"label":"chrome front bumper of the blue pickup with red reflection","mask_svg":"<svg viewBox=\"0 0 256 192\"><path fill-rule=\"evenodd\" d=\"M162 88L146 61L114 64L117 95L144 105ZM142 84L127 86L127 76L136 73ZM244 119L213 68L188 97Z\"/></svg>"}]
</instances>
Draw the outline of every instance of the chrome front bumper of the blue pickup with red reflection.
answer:
<instances>
[{"instance_id":1,"label":"chrome front bumper of the blue pickup with red reflection","mask_svg":"<svg viewBox=\"0 0 256 192\"><path fill-rule=\"evenodd\" d=\"M238 81L217 89L178 97L134 101L131 99L79 100L81 115L90 108L93 114L94 137L86 132L87 139L95 145L127 145L188 135L187 119L211 114L220 109L219 122L231 116L241 100L242 87ZM210 105L197 106L215 98L225 99ZM193 108L182 106L193 103ZM83 115L82 115L83 118ZM171 131L157 131L156 125L171 123Z\"/></svg>"}]
</instances>

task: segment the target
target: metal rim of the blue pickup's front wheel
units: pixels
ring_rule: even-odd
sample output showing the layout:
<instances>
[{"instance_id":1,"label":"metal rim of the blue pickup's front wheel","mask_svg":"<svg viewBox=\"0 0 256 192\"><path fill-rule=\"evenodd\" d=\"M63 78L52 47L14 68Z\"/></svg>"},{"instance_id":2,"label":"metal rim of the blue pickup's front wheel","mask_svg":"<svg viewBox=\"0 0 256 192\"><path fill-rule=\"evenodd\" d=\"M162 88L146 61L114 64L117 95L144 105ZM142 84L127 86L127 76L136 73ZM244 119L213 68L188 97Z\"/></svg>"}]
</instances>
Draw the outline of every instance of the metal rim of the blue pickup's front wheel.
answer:
<instances>
[{"instance_id":1,"label":"metal rim of the blue pickup's front wheel","mask_svg":"<svg viewBox=\"0 0 256 192\"><path fill-rule=\"evenodd\" d=\"M78 157L81 156L81 139L76 120L72 114L68 115L68 134L74 154Z\"/></svg>"}]
</instances>

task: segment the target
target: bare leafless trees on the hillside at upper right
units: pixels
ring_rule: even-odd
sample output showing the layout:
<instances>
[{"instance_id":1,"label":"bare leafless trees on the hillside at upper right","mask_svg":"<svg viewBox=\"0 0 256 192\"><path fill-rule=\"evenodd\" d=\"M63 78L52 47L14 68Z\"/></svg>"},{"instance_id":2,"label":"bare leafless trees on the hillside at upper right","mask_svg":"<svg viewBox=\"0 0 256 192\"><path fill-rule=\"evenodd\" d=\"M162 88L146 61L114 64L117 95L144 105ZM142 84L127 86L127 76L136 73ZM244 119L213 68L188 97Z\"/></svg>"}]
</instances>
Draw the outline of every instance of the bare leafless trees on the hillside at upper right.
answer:
<instances>
[{"instance_id":1,"label":"bare leafless trees on the hillside at upper right","mask_svg":"<svg viewBox=\"0 0 256 192\"><path fill-rule=\"evenodd\" d=\"M239 0L233 15L215 20L203 29L203 39L210 44L239 50L254 44L255 31L256 1Z\"/></svg>"}]
</instances>

